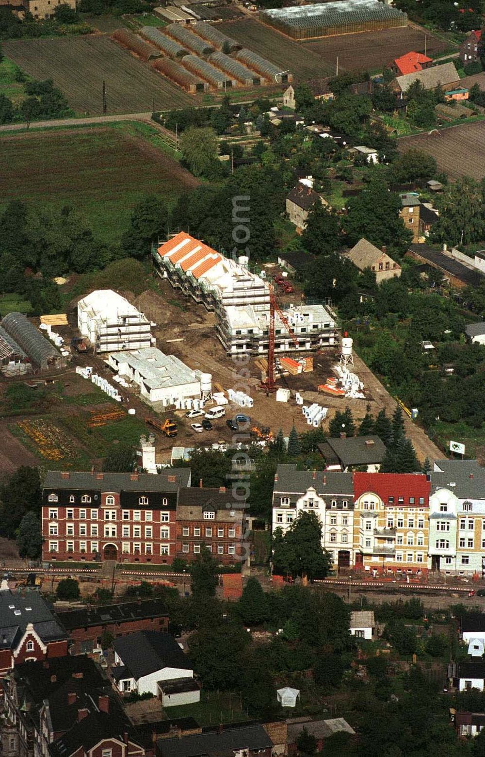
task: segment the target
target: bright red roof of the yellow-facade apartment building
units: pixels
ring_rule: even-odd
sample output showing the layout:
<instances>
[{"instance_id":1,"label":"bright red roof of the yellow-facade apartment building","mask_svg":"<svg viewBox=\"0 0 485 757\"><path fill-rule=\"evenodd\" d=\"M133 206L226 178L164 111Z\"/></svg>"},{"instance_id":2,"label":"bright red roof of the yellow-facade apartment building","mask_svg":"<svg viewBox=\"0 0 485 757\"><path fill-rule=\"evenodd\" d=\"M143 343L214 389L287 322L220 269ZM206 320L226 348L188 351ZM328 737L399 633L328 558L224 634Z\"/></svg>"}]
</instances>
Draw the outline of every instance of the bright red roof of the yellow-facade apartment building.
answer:
<instances>
[{"instance_id":1,"label":"bright red roof of the yellow-facade apartment building","mask_svg":"<svg viewBox=\"0 0 485 757\"><path fill-rule=\"evenodd\" d=\"M357 500L367 492L377 494L384 505L427 507L431 483L423 473L354 473L353 493Z\"/></svg>"}]
</instances>

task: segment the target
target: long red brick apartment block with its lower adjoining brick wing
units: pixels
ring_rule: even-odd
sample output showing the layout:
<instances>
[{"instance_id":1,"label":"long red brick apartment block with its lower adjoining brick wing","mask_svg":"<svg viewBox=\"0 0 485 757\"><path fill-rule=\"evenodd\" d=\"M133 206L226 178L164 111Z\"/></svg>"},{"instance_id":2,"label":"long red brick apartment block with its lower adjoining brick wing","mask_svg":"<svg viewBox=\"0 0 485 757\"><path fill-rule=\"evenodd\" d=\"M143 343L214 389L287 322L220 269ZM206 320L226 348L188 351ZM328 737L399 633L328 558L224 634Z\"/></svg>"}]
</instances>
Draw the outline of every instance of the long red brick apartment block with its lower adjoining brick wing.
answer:
<instances>
[{"instance_id":1,"label":"long red brick apartment block with its lower adjoining brick wing","mask_svg":"<svg viewBox=\"0 0 485 757\"><path fill-rule=\"evenodd\" d=\"M194 559L204 542L220 563L238 562L244 506L225 489L190 484L188 468L158 475L49 471L42 491L43 559L171 565L176 555Z\"/></svg>"}]
</instances>

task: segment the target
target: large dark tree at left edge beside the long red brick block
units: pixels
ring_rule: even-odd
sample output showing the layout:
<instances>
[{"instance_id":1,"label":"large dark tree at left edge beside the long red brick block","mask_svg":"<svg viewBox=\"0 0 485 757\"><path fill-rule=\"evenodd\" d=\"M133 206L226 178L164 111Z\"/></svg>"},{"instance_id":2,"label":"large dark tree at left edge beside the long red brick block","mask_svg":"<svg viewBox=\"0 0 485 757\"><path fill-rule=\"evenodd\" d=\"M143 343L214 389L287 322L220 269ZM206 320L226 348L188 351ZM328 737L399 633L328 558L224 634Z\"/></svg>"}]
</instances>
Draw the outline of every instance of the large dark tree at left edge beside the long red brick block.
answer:
<instances>
[{"instance_id":1,"label":"large dark tree at left edge beside the long red brick block","mask_svg":"<svg viewBox=\"0 0 485 757\"><path fill-rule=\"evenodd\" d=\"M26 512L40 516L42 492L38 468L20 466L0 484L0 534L13 539Z\"/></svg>"}]
</instances>

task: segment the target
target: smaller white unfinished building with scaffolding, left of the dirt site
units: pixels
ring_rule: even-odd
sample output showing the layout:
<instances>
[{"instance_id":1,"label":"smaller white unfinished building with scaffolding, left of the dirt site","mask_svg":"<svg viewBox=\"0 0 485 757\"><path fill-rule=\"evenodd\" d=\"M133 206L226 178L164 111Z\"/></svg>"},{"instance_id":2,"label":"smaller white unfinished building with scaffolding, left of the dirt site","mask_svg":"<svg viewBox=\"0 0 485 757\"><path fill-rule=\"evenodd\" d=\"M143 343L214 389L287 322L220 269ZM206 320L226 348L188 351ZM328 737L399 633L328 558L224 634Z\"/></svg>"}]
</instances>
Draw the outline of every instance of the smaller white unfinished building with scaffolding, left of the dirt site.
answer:
<instances>
[{"instance_id":1,"label":"smaller white unfinished building with scaffolding, left of the dirt site","mask_svg":"<svg viewBox=\"0 0 485 757\"><path fill-rule=\"evenodd\" d=\"M151 322L111 289L92 291L77 304L77 326L95 352L154 347Z\"/></svg>"}]
</instances>

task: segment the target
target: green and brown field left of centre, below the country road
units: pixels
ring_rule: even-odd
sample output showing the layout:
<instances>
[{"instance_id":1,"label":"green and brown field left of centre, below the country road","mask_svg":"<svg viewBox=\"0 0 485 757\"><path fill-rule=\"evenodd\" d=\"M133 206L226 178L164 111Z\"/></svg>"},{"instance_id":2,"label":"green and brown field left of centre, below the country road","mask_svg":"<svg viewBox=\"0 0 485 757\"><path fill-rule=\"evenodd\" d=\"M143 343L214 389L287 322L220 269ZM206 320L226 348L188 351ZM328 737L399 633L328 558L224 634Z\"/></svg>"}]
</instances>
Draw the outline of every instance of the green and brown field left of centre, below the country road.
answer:
<instances>
[{"instance_id":1,"label":"green and brown field left of centre, below the country road","mask_svg":"<svg viewBox=\"0 0 485 757\"><path fill-rule=\"evenodd\" d=\"M70 204L97 238L118 243L146 195L173 204L199 183L157 133L148 124L125 122L2 136L0 210L15 200L51 210Z\"/></svg>"}]
</instances>

